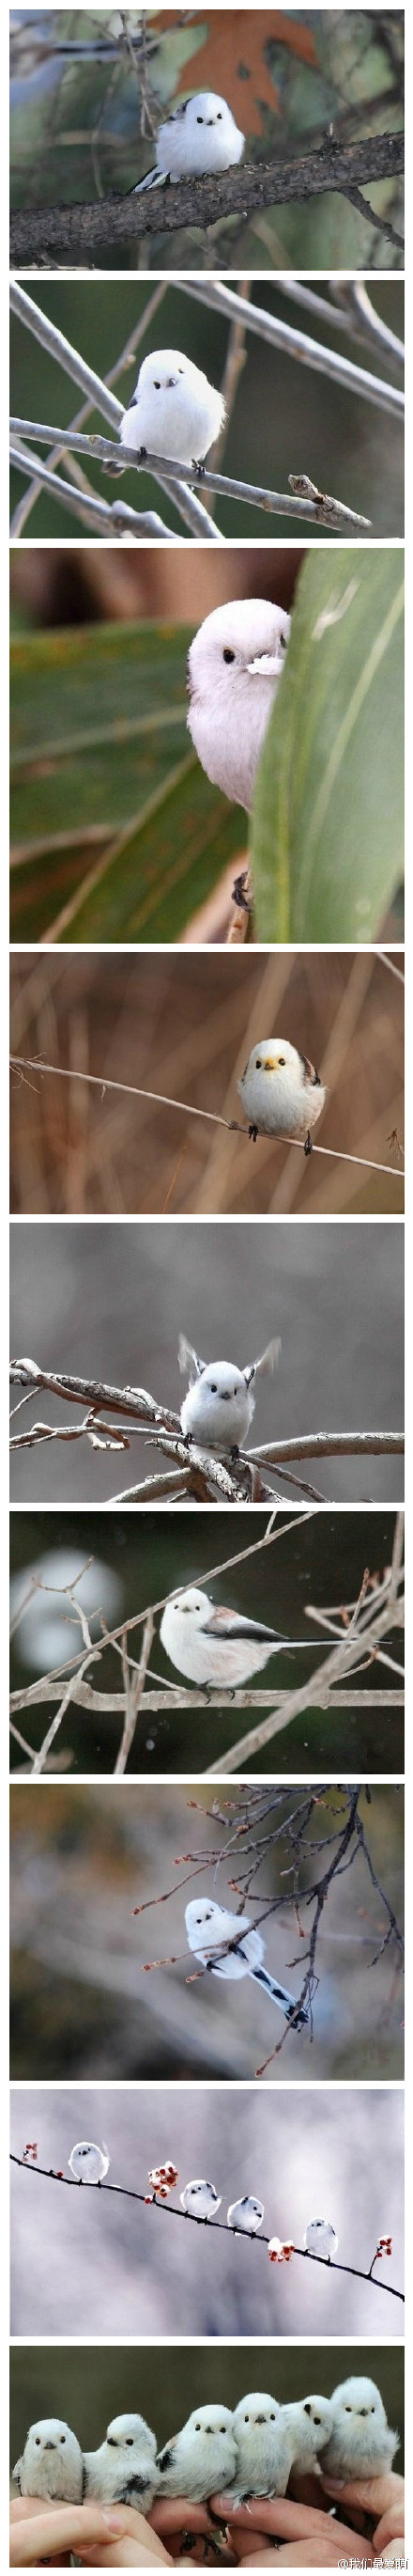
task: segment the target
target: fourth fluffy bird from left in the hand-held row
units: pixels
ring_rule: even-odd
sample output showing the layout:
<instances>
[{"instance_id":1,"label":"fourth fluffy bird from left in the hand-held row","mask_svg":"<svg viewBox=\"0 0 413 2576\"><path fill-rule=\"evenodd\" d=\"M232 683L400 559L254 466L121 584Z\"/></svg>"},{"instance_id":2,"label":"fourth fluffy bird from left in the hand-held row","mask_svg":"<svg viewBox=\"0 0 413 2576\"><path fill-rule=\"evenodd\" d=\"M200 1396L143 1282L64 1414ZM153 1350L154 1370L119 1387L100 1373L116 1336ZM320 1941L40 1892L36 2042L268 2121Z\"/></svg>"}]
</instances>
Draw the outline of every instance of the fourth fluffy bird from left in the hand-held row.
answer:
<instances>
[{"instance_id":1,"label":"fourth fluffy bird from left in the hand-held row","mask_svg":"<svg viewBox=\"0 0 413 2576\"><path fill-rule=\"evenodd\" d=\"M244 2504L249 2496L285 2496L292 2465L292 2434L277 2398L262 2396L262 2388L239 2398L233 2409L233 2442L236 2478L231 2501Z\"/></svg>"}]
</instances>

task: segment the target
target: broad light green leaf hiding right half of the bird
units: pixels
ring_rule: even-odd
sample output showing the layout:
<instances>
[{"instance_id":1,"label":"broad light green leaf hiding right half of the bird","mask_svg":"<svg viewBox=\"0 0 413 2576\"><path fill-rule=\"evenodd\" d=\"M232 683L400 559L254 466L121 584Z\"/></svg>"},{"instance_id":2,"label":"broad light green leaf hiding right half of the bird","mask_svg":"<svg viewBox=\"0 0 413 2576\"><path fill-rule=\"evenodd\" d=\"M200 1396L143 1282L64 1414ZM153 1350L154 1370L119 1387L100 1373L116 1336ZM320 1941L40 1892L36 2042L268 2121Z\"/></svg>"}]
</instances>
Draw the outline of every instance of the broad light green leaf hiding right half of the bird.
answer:
<instances>
[{"instance_id":1,"label":"broad light green leaf hiding right half of the bird","mask_svg":"<svg viewBox=\"0 0 413 2576\"><path fill-rule=\"evenodd\" d=\"M259 940L380 935L403 878L403 554L316 551L259 762Z\"/></svg>"}]
</instances>

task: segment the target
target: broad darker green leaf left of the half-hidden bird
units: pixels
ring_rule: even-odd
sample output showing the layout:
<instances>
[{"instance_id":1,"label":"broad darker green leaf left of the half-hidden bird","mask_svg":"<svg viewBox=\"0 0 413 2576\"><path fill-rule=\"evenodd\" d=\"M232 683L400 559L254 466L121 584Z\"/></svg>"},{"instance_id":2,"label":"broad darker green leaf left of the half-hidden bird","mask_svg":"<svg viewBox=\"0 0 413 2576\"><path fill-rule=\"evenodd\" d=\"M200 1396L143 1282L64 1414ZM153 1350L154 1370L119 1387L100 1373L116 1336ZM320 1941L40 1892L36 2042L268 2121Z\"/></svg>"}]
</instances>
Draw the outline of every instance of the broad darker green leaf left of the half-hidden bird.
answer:
<instances>
[{"instance_id":1,"label":"broad darker green leaf left of the half-hidden bird","mask_svg":"<svg viewBox=\"0 0 413 2576\"><path fill-rule=\"evenodd\" d=\"M13 639L15 940L174 940L244 840L187 739L190 629Z\"/></svg>"}]
</instances>

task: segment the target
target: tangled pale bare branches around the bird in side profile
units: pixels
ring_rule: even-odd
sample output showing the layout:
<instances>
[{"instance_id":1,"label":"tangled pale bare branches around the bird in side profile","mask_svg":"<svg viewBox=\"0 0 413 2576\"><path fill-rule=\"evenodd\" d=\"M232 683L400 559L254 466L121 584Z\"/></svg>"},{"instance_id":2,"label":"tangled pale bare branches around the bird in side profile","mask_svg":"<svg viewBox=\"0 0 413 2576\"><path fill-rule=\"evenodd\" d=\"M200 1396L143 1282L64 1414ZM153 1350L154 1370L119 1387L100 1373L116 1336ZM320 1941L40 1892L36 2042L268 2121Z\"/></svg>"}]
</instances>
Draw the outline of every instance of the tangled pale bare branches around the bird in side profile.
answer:
<instances>
[{"instance_id":1,"label":"tangled pale bare branches around the bird in side profile","mask_svg":"<svg viewBox=\"0 0 413 2576\"><path fill-rule=\"evenodd\" d=\"M280 1522L280 1528L274 1528L277 1515L272 1512L267 1528L262 1530L262 1535L251 1546L241 1548L236 1556L228 1556L226 1561L221 1561L215 1566L208 1566L208 1582L213 1582L215 1574L223 1577L233 1566L241 1566L249 1556L262 1553L262 1548L277 1546L282 1538L295 1535L295 1530L300 1528L300 1522L305 1522L310 1517L313 1517L310 1512L295 1512L295 1517L290 1522ZM82 1571L87 1571L87 1569L82 1569ZM126 1620L121 1628L113 1628L110 1633L103 1625L100 1607L95 1607L95 1620L100 1620L100 1633L97 1633L97 1638L92 1643L90 1623L85 1618L82 1602L77 1600L77 1584L80 1584L80 1579L82 1577L77 1577L74 1584L59 1587L59 1597L67 1597L72 1620L80 1620L80 1628L82 1628L82 1654L72 1654L69 1656L69 1674L67 1674L67 1664L64 1664L64 1667L54 1669L51 1674L41 1677L38 1682L26 1682L23 1690L15 1690L13 1698L10 1698L13 1734L15 1734L18 1744L21 1744L21 1749L28 1754L31 1765L36 1767L36 1772L44 1770L44 1765L49 1765L49 1747L51 1747L51 1741L56 1736L56 1728L62 1723L62 1716L64 1716L69 1700L77 1708L87 1708L92 1716L103 1716L105 1713L105 1716L118 1716L123 1721L123 1739L121 1739L121 1754L118 1754L115 1770L126 1767L126 1759L128 1759L128 1752L131 1752L131 1741L133 1741L139 1705L141 1705L144 1718L146 1716L154 1718L156 1713L174 1710L174 1708L182 1708L185 1713L190 1713L192 1708L203 1708L205 1710L205 1695L203 1695L203 1690L185 1690L182 1682L164 1682L164 1685L156 1685L154 1690L144 1687L146 1682L156 1682L156 1677L151 1674L151 1667L149 1667L149 1651L151 1651L149 1625L151 1625L151 1633L154 1633L154 1618L156 1618L159 1610L164 1610L164 1600L169 1595L162 1595L162 1600L156 1600L156 1602L146 1605L144 1610L133 1613L131 1620ZM200 1571L200 1582L203 1579L205 1579L205 1569ZM49 1595L49 1592L54 1592L54 1587L51 1584L41 1584L38 1579L33 1579L28 1584L28 1592L23 1595L23 1602L21 1602L21 1610L18 1610L18 1620L23 1618L23 1613L26 1613L26 1607L33 1600L36 1592L46 1592ZM403 1625L403 1512L398 1512L398 1517L395 1517L392 1564L387 1566L385 1577L377 1579L377 1577L367 1577L364 1574L357 1605L341 1605L339 1610L316 1610L310 1605L308 1607L308 1618L313 1618L318 1625L323 1625L328 1631L328 1638L333 1643L333 1664L336 1664L333 1682L328 1680L328 1674L331 1674L331 1656L328 1656L328 1662L313 1672L310 1685L305 1685L300 1692L298 1690L295 1692L290 1692L290 1690L236 1690L236 1692L221 1690L218 1692L218 1708L221 1710L228 1708L228 1705L231 1708L236 1705L236 1708L254 1708L254 1710L257 1708L269 1708L272 1710L272 1716L262 1723L262 1728L257 1728L251 1734L251 1739L244 1736L239 1747L231 1747L231 1754L221 1754L221 1772L236 1767L236 1754L241 1754L241 1759L246 1759L249 1747L257 1747L257 1741L267 1741L269 1736L280 1734L280 1728L285 1728L290 1723L290 1718L298 1713L298 1708L308 1708L308 1700L313 1700L313 1705L323 1705L323 1708L331 1708L331 1710L341 1708L341 1705L346 1705L346 1708L362 1705L364 1710L369 1705L375 1705L375 1708L387 1705L387 1708L395 1710L398 1705L403 1705L403 1687L400 1690L387 1687L387 1690L372 1690L372 1692L367 1687L354 1690L354 1692L349 1690L349 1672L357 1672L357 1669L364 1672L367 1662L377 1662L377 1664L385 1662L385 1664L390 1664L392 1672L400 1674L400 1682L403 1682L403 1672L400 1672L398 1662L390 1659L382 1651L382 1641L392 1633L392 1628ZM336 1628L336 1618L339 1618L339 1628ZM13 1623L13 1628L15 1628L15 1623ZM139 1664L133 1662L131 1646L128 1646L128 1636L133 1633L133 1628L144 1628L144 1641L146 1641ZM336 1646L336 1638L339 1638L339 1646ZM126 1667L128 1667L128 1692L126 1692L126 1687L123 1687L123 1692L95 1690L95 1685L90 1680L85 1680L85 1669L87 1669L90 1659L103 1662L103 1651L108 1646L115 1646L115 1649L121 1646L121 1654L123 1654L123 1685L126 1685ZM303 1646L305 1646L305 1641L303 1641ZM136 1685L139 1685L139 1698L136 1698ZM344 1685L344 1687L339 1687L339 1685ZM346 1692L346 1698L344 1698L344 1692ZM26 1708L44 1705L44 1700L59 1700L59 1710L56 1710L54 1726L46 1731L46 1739L44 1739L38 1754L33 1754L33 1747L15 1728L15 1716L21 1710L26 1710ZM131 1716L131 1710L133 1710L133 1716ZM210 1777L210 1772L205 1772L205 1777Z\"/></svg>"}]
</instances>

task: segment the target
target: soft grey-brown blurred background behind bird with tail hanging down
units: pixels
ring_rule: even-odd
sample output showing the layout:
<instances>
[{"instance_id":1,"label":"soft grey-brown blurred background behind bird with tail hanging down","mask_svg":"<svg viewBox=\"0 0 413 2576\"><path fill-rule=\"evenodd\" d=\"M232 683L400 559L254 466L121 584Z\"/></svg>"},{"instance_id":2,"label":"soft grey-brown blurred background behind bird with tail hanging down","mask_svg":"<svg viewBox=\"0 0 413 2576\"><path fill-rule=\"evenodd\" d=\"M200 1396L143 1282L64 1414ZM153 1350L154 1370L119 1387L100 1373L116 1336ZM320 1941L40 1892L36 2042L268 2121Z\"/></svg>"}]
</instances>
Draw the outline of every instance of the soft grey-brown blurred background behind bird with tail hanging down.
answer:
<instances>
[{"instance_id":1,"label":"soft grey-brown blurred background behind bird with tail hanging down","mask_svg":"<svg viewBox=\"0 0 413 2576\"><path fill-rule=\"evenodd\" d=\"M49 1780L10 1793L10 1996L18 2081L233 2081L251 2079L277 2048L285 2022L264 1989L241 1978L228 1989L218 1976L192 1973L185 1940L185 1904L192 1896L190 1857L205 1855L203 1893L233 1904L226 1839L233 1801L226 1788L226 1829L213 1811L210 1785L77 1788ZM244 1790L246 1795L246 1790ZM236 1816L239 1816L239 1798ZM259 1893L282 1899L267 1922L267 1965L300 1994L303 1958L285 1873L292 1865L290 1821L298 1793L285 1793L285 1834L264 1852ZM318 1875L318 1847L339 1834L349 1814L344 1790L323 1790L313 1811L313 1857L303 1855L300 1886ZM372 1868L400 1922L403 1914L403 1790L362 1793L359 1816ZM269 1819L272 1829L272 1819ZM177 1860L187 1855L182 1878ZM215 1852L223 1855L215 1868ZM331 1855L328 1855L331 1857ZM326 1855L321 1850L321 1873ZM287 1878L290 1883L290 1878ZM167 1896L167 1904L162 1904ZM133 1919L136 1906L151 1909ZM305 1927L310 1917L305 1909ZM367 1862L333 1878L318 1937L318 1994L313 2040L308 2027L287 2030L272 2058L272 2084L292 2079L390 2081L403 2076L403 1986L395 1955L372 1965L387 1917ZM146 1965L154 1963L151 1976ZM190 1984L187 1984L190 1978ZM262 2099L262 2097L259 2097ZM33 2138L33 2128L28 2128ZM23 2141L26 2143L26 2141ZM167 2143L167 2154L174 2154ZM41 2161L41 2159L38 2159ZM162 2148L164 2161L164 2148ZM59 2156L62 2164L62 2156ZM200 2164L203 2172L203 2164ZM38 2184L33 2184L38 2190ZM46 2184L44 2184L46 2190ZM233 2197L233 2192L228 2195ZM382 2221L382 2228L387 2221ZM382 2233L380 2228L380 2233Z\"/></svg>"}]
</instances>

